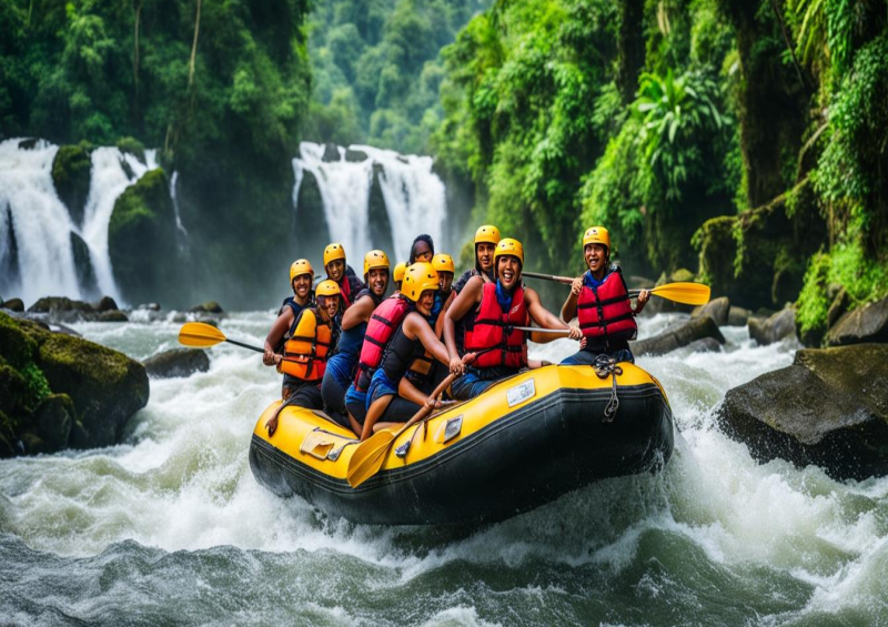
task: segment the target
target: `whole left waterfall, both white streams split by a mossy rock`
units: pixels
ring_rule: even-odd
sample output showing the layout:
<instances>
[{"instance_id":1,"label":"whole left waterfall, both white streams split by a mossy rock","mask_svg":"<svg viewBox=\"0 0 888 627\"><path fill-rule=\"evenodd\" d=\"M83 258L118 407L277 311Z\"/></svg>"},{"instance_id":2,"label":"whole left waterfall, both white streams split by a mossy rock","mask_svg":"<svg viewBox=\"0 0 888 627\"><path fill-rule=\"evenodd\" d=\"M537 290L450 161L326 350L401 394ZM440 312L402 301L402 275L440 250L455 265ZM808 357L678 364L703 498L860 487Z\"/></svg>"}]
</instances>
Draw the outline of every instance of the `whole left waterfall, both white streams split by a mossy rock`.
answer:
<instances>
[{"instance_id":1,"label":"whole left waterfall, both white streams split by a mossy rock","mask_svg":"<svg viewBox=\"0 0 888 627\"><path fill-rule=\"evenodd\" d=\"M120 194L158 168L157 151L147 150L142 163L117 148L93 150L83 223L78 227L52 183L59 146L38 140L23 148L26 141L30 142L0 142L0 295L30 304L48 295L83 300L98 289L120 300L108 253L108 225ZM72 234L89 251L94 285L78 280Z\"/></svg>"}]
</instances>

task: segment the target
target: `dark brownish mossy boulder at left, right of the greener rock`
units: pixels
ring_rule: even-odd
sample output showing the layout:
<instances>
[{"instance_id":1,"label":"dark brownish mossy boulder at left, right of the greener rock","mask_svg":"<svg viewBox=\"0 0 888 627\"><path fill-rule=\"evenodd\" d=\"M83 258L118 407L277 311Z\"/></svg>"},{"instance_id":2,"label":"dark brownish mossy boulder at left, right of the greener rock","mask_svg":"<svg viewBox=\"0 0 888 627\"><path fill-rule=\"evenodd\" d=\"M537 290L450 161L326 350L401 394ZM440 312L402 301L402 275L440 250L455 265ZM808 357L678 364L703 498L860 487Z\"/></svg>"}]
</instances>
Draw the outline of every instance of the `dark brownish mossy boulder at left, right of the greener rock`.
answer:
<instances>
[{"instance_id":1,"label":"dark brownish mossy boulder at left, right of the greener rock","mask_svg":"<svg viewBox=\"0 0 888 627\"><path fill-rule=\"evenodd\" d=\"M54 333L40 346L38 363L52 391L77 407L88 435L79 447L117 444L130 416L148 404L144 366L111 348Z\"/></svg>"}]
</instances>

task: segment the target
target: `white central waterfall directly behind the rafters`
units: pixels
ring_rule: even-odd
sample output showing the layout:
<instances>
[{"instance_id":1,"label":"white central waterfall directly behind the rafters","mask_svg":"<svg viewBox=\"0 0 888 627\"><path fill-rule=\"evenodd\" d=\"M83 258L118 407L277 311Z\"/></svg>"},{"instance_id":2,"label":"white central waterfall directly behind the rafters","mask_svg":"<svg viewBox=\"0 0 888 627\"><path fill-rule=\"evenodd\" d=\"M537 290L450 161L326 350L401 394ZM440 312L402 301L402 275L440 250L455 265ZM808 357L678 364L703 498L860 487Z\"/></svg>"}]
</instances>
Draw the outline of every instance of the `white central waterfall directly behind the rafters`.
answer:
<instances>
[{"instance_id":1,"label":"white central waterfall directly behind the rafters","mask_svg":"<svg viewBox=\"0 0 888 627\"><path fill-rule=\"evenodd\" d=\"M332 146L330 146L332 148ZM321 193L324 216L333 241L341 242L350 259L360 259L374 246L370 235L370 195L375 178L380 185L392 231L396 260L406 261L413 239L428 233L442 249L446 214L444 183L432 172L432 158L402 155L391 150L353 145L349 151L366 159L346 160L346 150L336 148L337 160L322 144L302 142L293 160L294 206L305 172L314 175ZM325 159L326 158L326 159ZM297 206L296 206L297 209ZM379 243L375 243L379 245ZM394 259L393 259L394 261Z\"/></svg>"}]
</instances>

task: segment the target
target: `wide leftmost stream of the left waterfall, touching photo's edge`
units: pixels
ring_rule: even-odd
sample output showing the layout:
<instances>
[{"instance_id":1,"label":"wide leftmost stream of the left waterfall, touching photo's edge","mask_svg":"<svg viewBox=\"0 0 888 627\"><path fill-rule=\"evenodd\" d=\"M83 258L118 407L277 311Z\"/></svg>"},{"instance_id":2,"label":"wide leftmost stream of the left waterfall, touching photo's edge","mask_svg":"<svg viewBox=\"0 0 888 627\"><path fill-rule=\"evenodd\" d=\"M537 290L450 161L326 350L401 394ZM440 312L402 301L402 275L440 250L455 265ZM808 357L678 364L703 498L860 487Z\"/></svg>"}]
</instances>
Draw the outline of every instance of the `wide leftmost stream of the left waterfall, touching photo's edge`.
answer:
<instances>
[{"instance_id":1,"label":"wide leftmost stream of the left waterfall, touching photo's edge","mask_svg":"<svg viewBox=\"0 0 888 627\"><path fill-rule=\"evenodd\" d=\"M41 140L19 148L24 141L0 143L0 295L26 303L48 294L80 297L74 225L52 184L59 146Z\"/></svg>"}]
</instances>

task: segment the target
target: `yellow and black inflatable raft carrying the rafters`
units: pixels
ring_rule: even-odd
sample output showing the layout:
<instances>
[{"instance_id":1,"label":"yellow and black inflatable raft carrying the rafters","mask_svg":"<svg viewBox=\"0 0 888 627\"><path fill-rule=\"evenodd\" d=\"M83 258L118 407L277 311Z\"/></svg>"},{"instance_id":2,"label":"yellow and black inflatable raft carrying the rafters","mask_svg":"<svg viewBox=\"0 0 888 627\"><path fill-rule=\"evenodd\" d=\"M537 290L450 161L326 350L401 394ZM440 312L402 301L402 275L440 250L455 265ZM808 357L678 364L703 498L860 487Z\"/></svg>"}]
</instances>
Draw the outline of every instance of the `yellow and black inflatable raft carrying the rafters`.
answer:
<instances>
[{"instance_id":1,"label":"yellow and black inflatable raft carrying the rafters","mask_svg":"<svg viewBox=\"0 0 888 627\"><path fill-rule=\"evenodd\" d=\"M330 516L384 525L502 520L595 481L659 471L673 452L673 416L659 382L622 363L546 366L506 378L481 396L408 427L380 472L346 482L359 443L322 412L285 407L269 437L256 422L250 467L281 496L300 495ZM410 442L410 444L407 444Z\"/></svg>"}]
</instances>

